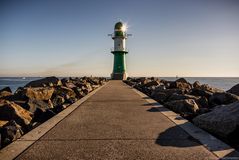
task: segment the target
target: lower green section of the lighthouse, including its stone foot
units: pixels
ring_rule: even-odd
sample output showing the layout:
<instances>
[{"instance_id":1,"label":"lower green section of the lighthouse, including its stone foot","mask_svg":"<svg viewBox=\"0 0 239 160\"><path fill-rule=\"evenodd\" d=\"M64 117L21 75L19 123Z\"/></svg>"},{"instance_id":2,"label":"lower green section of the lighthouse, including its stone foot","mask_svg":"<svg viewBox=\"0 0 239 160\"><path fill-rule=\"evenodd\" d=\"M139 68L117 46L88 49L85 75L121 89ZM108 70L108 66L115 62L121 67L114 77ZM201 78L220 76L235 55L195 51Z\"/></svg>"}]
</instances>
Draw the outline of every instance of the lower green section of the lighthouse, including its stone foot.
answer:
<instances>
[{"instance_id":1,"label":"lower green section of the lighthouse, including its stone foot","mask_svg":"<svg viewBox=\"0 0 239 160\"><path fill-rule=\"evenodd\" d=\"M114 68L111 78L113 80L126 80L126 63L125 55L128 53L126 51L112 51L114 54Z\"/></svg>"}]
</instances>

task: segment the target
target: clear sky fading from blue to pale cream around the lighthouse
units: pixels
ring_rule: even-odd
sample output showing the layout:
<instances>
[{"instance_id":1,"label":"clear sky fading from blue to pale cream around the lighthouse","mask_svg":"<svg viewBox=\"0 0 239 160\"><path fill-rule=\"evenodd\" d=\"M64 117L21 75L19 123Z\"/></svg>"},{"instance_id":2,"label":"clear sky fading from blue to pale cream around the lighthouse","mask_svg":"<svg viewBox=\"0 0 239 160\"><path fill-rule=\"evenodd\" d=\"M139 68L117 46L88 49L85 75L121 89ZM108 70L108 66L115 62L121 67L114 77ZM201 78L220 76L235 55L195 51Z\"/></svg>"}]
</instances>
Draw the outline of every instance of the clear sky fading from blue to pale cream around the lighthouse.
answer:
<instances>
[{"instance_id":1,"label":"clear sky fading from blue to pale cream around the lighthouse","mask_svg":"<svg viewBox=\"0 0 239 160\"><path fill-rule=\"evenodd\" d=\"M237 0L0 0L0 76L110 76L119 20L129 76L239 76Z\"/></svg>"}]
</instances>

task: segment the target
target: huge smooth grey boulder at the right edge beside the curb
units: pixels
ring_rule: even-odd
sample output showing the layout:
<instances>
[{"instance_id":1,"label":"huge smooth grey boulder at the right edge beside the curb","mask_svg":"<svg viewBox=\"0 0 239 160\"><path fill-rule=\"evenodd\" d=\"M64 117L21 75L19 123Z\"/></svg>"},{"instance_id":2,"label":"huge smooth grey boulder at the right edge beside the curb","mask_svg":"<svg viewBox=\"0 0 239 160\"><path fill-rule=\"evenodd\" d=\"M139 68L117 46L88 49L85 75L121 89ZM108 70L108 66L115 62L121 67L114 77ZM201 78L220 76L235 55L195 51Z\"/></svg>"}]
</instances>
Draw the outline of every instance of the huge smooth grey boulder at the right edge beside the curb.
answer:
<instances>
[{"instance_id":1,"label":"huge smooth grey boulder at the right edge beside the curb","mask_svg":"<svg viewBox=\"0 0 239 160\"><path fill-rule=\"evenodd\" d=\"M211 112L197 116L193 122L217 136L230 138L239 126L239 102L218 106Z\"/></svg>"}]
</instances>

